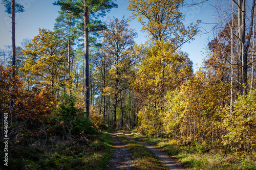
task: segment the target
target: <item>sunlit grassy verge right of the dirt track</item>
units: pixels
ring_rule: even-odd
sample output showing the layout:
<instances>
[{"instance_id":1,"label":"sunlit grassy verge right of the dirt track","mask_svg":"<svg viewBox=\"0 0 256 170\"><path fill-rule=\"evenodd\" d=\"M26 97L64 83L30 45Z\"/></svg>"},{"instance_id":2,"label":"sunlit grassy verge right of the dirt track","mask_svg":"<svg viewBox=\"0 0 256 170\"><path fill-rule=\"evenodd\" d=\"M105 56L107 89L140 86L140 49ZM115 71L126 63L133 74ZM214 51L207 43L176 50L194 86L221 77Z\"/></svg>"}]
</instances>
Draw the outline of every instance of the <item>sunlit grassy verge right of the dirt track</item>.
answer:
<instances>
[{"instance_id":1,"label":"sunlit grassy verge right of the dirt track","mask_svg":"<svg viewBox=\"0 0 256 170\"><path fill-rule=\"evenodd\" d=\"M177 158L189 169L256 169L256 162L246 154L230 153L221 149L209 149L198 142L184 144L179 143L177 140L148 138L137 131L133 131L132 136L138 140L156 145L170 156Z\"/></svg>"}]
</instances>

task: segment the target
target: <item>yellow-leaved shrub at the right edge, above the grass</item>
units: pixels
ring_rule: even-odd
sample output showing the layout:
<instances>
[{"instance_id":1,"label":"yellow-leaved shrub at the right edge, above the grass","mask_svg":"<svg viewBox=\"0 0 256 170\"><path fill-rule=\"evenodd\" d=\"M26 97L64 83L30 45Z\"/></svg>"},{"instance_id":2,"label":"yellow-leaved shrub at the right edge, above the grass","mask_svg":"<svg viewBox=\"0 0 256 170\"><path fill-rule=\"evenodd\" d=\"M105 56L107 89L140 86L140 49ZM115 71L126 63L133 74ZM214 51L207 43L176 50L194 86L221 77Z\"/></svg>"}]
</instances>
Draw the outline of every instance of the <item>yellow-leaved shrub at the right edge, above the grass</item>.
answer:
<instances>
[{"instance_id":1,"label":"yellow-leaved shrub at the right edge, above the grass","mask_svg":"<svg viewBox=\"0 0 256 170\"><path fill-rule=\"evenodd\" d=\"M233 149L255 151L256 145L256 90L248 95L239 96L233 103L233 111L226 107L221 113L224 117L221 125L228 132L223 136L223 144Z\"/></svg>"}]
</instances>

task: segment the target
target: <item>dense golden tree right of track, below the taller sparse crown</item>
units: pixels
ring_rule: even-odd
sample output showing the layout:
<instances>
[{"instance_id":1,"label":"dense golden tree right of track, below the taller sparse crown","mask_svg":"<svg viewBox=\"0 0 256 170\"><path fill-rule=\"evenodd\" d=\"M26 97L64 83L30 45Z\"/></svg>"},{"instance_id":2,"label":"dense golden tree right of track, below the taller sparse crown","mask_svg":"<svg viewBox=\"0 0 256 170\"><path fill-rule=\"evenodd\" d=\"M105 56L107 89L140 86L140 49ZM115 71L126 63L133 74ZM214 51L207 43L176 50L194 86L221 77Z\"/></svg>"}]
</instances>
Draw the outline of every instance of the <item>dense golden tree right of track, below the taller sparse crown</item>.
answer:
<instances>
[{"instance_id":1,"label":"dense golden tree right of track, below the taller sparse crown","mask_svg":"<svg viewBox=\"0 0 256 170\"><path fill-rule=\"evenodd\" d=\"M192 75L192 62L182 52L174 54L168 42L152 45L143 52L145 57L138 66L132 88L141 101L140 129L158 136L163 127L166 94Z\"/></svg>"}]
</instances>

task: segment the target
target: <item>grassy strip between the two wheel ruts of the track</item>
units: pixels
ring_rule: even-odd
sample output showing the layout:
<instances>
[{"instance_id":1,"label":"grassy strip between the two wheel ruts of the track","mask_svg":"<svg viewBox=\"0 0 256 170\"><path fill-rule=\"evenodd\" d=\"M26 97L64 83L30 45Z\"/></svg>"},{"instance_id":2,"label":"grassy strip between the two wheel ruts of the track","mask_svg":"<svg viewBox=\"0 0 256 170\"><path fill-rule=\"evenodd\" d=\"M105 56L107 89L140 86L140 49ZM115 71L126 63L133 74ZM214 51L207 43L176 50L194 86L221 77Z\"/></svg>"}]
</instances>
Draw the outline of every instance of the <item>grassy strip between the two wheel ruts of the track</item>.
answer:
<instances>
[{"instance_id":1,"label":"grassy strip between the two wheel ruts of the track","mask_svg":"<svg viewBox=\"0 0 256 170\"><path fill-rule=\"evenodd\" d=\"M142 144L127 138L123 131L120 131L117 134L117 137L125 144L125 147L127 147L129 152L133 155L136 169L165 169L148 149Z\"/></svg>"}]
</instances>

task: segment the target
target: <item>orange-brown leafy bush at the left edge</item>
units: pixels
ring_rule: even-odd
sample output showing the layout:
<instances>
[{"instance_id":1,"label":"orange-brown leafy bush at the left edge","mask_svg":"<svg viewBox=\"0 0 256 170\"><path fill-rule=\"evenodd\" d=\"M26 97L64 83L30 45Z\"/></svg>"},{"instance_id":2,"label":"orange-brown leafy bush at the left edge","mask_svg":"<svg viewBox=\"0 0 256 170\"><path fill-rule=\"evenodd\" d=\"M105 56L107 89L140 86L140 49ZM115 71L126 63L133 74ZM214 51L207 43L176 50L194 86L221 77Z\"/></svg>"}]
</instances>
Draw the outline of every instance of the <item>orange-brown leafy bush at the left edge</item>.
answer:
<instances>
[{"instance_id":1,"label":"orange-brown leafy bush at the left edge","mask_svg":"<svg viewBox=\"0 0 256 170\"><path fill-rule=\"evenodd\" d=\"M24 90L23 80L18 76L12 78L11 75L12 67L0 65L1 119L4 113L8 113L10 130L24 122L30 130L38 128L42 123L49 123L49 117L55 109L52 93L47 88Z\"/></svg>"}]
</instances>

